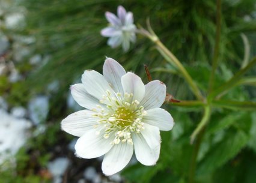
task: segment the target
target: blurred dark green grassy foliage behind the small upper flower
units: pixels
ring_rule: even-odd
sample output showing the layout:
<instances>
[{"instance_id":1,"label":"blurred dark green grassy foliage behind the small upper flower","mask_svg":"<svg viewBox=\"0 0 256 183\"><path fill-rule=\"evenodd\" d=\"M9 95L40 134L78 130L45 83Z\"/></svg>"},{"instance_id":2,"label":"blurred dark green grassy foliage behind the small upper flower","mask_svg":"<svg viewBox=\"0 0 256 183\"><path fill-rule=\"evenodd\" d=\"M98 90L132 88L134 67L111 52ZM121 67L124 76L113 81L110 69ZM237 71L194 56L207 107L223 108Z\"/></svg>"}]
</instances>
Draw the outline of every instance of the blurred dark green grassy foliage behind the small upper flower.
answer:
<instances>
[{"instance_id":1,"label":"blurred dark green grassy foliage behind the small upper flower","mask_svg":"<svg viewBox=\"0 0 256 183\"><path fill-rule=\"evenodd\" d=\"M40 91L50 81L59 80L67 88L85 69L101 70L105 56L117 59L127 70L144 78L142 64L150 68L166 67L168 64L153 45L140 36L128 53L106 46L106 38L100 36L100 30L107 24L104 13L116 12L119 4L133 12L138 25L145 25L145 19L150 17L156 34L180 61L196 72L204 64L201 71L207 74L215 42L215 1L23 1L29 10L26 33L37 39L32 47L35 53L50 56L50 61L30 77L31 86L39 87ZM256 23L251 17L254 1L224 1L223 6L220 59L222 64L228 64L225 74L242 63L244 45L240 34L254 37ZM245 20L245 16L251 20ZM223 73L220 73L222 79ZM171 86L172 94L178 98L191 97L177 76L170 78L162 73L153 76ZM207 79L201 74L199 77L198 82Z\"/></svg>"}]
</instances>

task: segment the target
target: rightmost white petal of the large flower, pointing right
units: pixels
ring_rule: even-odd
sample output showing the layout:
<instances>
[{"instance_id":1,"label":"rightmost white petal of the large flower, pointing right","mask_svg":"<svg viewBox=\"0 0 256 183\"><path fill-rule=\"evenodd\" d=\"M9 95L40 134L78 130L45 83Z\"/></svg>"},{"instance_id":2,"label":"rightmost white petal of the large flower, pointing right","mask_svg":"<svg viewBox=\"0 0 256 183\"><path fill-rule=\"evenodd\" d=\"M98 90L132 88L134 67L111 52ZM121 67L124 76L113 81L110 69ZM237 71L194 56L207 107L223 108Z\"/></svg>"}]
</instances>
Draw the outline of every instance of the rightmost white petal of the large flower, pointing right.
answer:
<instances>
[{"instance_id":1,"label":"rightmost white petal of the large flower, pointing right","mask_svg":"<svg viewBox=\"0 0 256 183\"><path fill-rule=\"evenodd\" d=\"M170 113L161 108L154 108L146 110L147 115L142 119L144 123L156 126L159 130L168 131L171 130L174 121Z\"/></svg>"}]
</instances>

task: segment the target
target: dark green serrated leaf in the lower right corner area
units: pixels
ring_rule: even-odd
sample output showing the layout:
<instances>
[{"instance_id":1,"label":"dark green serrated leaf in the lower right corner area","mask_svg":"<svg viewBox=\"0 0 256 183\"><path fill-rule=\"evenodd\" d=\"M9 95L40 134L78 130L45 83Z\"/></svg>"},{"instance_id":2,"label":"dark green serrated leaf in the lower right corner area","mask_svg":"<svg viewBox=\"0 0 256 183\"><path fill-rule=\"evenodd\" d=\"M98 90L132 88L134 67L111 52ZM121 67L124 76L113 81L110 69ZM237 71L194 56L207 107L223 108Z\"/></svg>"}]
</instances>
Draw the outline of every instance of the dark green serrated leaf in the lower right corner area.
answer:
<instances>
[{"instance_id":1,"label":"dark green serrated leaf in the lower right corner area","mask_svg":"<svg viewBox=\"0 0 256 183\"><path fill-rule=\"evenodd\" d=\"M224 140L213 145L201 160L198 172L206 173L217 169L233 158L248 142L248 135L243 131L229 132Z\"/></svg>"}]
</instances>

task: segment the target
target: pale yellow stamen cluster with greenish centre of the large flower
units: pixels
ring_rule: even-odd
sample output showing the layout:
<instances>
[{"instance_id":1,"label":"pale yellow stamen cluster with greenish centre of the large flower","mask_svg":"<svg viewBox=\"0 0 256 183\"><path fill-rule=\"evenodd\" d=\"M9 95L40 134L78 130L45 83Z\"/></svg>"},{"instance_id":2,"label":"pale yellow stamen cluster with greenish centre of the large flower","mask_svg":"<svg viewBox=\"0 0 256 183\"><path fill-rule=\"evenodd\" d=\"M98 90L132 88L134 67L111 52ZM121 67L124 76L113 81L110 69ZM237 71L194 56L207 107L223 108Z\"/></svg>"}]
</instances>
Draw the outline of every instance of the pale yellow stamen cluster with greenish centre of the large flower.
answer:
<instances>
[{"instance_id":1,"label":"pale yellow stamen cluster with greenish centre of the large flower","mask_svg":"<svg viewBox=\"0 0 256 183\"><path fill-rule=\"evenodd\" d=\"M97 105L97 109L93 109L97 113L93 116L98 118L98 124L104 124L105 130L103 137L108 139L109 136L114 135L115 139L111 142L112 145L122 143L129 143L133 145L131 132L140 133L144 130L144 123L142 122L143 116L147 114L144 107L139 104L138 100L133 100L133 94L125 93L122 95L120 92L111 95L111 92L106 91L106 95L102 96L100 104L106 105L102 107ZM98 128L99 125L94 125Z\"/></svg>"}]
</instances>

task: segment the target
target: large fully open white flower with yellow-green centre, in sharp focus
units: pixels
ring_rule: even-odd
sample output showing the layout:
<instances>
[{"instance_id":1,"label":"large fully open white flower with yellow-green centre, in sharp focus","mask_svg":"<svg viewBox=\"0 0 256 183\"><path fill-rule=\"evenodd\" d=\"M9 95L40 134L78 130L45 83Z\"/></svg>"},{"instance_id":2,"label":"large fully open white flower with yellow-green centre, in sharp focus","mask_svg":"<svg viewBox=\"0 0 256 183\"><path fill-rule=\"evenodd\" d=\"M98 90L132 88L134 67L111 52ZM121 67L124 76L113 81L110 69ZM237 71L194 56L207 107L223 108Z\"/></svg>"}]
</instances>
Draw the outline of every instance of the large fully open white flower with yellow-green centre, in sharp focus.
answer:
<instances>
[{"instance_id":1,"label":"large fully open white flower with yellow-green centre, in sharp focus","mask_svg":"<svg viewBox=\"0 0 256 183\"><path fill-rule=\"evenodd\" d=\"M82 83L71 86L72 96L85 110L61 122L67 133L80 137L76 154L82 158L105 155L102 170L112 175L122 170L133 149L138 161L156 164L160 152L159 130L171 130L171 115L159 107L165 101L166 86L159 80L144 85L141 78L126 73L117 61L107 58L103 75L85 70Z\"/></svg>"}]
</instances>

